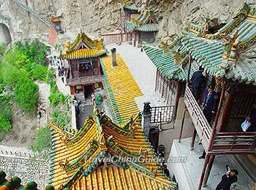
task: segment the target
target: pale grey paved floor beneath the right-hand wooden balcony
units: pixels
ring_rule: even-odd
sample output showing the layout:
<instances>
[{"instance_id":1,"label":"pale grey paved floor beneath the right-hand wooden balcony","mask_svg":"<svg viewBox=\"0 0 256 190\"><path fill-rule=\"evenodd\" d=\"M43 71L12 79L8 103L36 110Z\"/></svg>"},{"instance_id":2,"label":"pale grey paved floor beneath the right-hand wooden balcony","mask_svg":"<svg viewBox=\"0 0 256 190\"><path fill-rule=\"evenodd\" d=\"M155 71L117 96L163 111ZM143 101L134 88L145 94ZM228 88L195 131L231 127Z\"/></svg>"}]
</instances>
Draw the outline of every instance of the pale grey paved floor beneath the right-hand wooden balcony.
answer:
<instances>
[{"instance_id":1,"label":"pale grey paved floor beneath the right-hand wooden balcony","mask_svg":"<svg viewBox=\"0 0 256 190\"><path fill-rule=\"evenodd\" d=\"M191 138L182 139L181 143L178 140L173 141L173 146L169 156L167 166L170 170L170 175L175 174L179 189L181 190L196 190L200 175L203 169L204 159L198 159L203 151L203 147L198 145L198 140L195 141L194 151L189 151ZM206 188L202 190L213 190L219 183L221 176L225 174L225 165L229 164L232 169L238 170L238 182L233 183L236 190L250 190L253 186L253 181L248 177L234 156L219 155L215 156L214 164L211 169L211 174L208 178ZM233 185L231 189L233 189Z\"/></svg>"}]
</instances>

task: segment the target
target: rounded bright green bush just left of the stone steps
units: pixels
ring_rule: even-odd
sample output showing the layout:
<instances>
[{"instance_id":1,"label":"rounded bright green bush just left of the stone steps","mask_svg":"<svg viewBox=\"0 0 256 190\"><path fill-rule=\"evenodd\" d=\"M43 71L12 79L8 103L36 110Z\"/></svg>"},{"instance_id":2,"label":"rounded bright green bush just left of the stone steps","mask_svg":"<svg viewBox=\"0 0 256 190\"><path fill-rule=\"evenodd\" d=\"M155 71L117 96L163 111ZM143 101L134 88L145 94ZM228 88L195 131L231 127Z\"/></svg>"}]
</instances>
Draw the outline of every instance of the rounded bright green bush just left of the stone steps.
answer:
<instances>
[{"instance_id":1,"label":"rounded bright green bush just left of the stone steps","mask_svg":"<svg viewBox=\"0 0 256 190\"><path fill-rule=\"evenodd\" d=\"M14 91L15 101L20 108L29 113L35 113L38 101L38 86L31 80L25 78L20 79Z\"/></svg>"}]
</instances>

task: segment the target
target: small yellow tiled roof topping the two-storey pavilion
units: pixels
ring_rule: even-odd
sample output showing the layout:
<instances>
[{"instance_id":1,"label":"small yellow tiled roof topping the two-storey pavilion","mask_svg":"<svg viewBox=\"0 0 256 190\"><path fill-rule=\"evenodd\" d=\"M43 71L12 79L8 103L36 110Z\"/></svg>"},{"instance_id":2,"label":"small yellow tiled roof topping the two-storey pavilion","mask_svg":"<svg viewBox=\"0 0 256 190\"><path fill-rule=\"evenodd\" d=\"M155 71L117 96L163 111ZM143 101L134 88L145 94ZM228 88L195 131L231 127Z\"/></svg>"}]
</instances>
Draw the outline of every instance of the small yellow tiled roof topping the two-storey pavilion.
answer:
<instances>
[{"instance_id":1,"label":"small yellow tiled roof topping the two-storey pavilion","mask_svg":"<svg viewBox=\"0 0 256 190\"><path fill-rule=\"evenodd\" d=\"M66 53L60 56L66 59L94 58L106 53L102 39L92 40L82 31L72 44L67 42L65 46Z\"/></svg>"}]
</instances>

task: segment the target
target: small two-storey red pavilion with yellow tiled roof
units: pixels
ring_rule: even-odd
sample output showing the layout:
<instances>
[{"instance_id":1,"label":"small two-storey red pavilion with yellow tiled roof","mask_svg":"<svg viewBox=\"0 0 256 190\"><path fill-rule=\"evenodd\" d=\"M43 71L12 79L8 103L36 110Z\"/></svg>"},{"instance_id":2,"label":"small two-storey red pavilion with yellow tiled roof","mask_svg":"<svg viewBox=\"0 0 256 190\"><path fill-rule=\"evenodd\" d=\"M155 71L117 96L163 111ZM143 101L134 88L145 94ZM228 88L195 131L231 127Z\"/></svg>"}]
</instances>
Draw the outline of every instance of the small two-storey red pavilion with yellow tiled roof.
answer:
<instances>
[{"instance_id":1,"label":"small two-storey red pavilion with yellow tiled roof","mask_svg":"<svg viewBox=\"0 0 256 190\"><path fill-rule=\"evenodd\" d=\"M72 95L84 95L86 99L94 89L103 88L99 58L105 53L102 39L92 40L82 31L74 42L65 44L65 53L61 53L60 58L69 64L66 85L70 86Z\"/></svg>"}]
</instances>

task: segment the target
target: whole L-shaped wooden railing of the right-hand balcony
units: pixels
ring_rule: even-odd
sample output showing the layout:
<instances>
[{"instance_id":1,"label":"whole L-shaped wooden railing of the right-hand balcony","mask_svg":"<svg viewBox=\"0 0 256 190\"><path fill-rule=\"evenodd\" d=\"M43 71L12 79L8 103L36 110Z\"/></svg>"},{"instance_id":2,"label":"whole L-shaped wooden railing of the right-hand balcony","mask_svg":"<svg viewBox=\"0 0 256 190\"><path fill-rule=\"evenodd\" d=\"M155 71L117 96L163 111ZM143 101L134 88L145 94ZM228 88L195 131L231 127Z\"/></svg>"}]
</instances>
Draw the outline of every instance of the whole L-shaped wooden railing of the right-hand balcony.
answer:
<instances>
[{"instance_id":1,"label":"whole L-shaped wooden railing of the right-hand balcony","mask_svg":"<svg viewBox=\"0 0 256 190\"><path fill-rule=\"evenodd\" d=\"M187 106L189 115L197 131L197 135L202 141L202 145L208 151L211 133L213 132L203 110L195 100L192 91L187 86L184 102ZM256 153L256 132L217 132L209 154L241 154Z\"/></svg>"}]
</instances>

